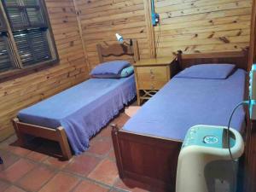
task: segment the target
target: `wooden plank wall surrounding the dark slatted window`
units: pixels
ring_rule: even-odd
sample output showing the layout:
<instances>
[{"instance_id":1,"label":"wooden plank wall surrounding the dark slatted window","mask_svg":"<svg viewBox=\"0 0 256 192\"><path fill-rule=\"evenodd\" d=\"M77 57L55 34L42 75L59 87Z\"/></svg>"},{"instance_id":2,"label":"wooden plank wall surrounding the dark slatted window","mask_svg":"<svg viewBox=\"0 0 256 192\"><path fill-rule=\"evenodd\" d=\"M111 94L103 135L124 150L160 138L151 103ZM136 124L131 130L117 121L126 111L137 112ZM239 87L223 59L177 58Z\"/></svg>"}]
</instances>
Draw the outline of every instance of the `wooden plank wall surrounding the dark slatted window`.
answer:
<instances>
[{"instance_id":1,"label":"wooden plank wall surrounding the dark slatted window","mask_svg":"<svg viewBox=\"0 0 256 192\"><path fill-rule=\"evenodd\" d=\"M60 63L0 84L0 141L12 134L11 119L21 108L65 90L87 78L73 0L46 0Z\"/></svg>"}]
</instances>

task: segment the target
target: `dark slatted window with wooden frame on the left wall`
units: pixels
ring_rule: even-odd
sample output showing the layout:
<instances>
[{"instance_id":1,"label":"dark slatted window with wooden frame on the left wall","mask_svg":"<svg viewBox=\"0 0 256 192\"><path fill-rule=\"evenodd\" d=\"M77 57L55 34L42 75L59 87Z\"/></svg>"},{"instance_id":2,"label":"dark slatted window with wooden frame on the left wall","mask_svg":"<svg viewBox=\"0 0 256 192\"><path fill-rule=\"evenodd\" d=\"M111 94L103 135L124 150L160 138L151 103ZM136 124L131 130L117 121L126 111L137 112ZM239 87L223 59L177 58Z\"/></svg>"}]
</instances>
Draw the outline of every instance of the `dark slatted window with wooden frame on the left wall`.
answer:
<instances>
[{"instance_id":1,"label":"dark slatted window with wooden frame on the left wall","mask_svg":"<svg viewBox=\"0 0 256 192\"><path fill-rule=\"evenodd\" d=\"M2 0L1 9L0 79L2 72L58 61L44 0Z\"/></svg>"}]
</instances>

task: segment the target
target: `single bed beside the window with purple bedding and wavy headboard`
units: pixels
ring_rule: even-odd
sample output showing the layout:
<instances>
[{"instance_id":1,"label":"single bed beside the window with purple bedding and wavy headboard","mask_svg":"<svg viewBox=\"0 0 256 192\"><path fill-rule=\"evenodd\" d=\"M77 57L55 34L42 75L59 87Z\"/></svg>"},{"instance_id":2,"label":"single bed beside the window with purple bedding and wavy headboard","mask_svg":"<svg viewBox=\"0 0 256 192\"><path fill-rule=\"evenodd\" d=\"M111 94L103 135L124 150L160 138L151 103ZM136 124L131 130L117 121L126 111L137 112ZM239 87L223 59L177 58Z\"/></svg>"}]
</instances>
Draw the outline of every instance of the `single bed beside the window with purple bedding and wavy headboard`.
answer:
<instances>
[{"instance_id":1,"label":"single bed beside the window with purple bedding and wavy headboard","mask_svg":"<svg viewBox=\"0 0 256 192\"><path fill-rule=\"evenodd\" d=\"M135 40L133 45L137 46ZM110 55L137 57L133 47L113 44L108 48L98 45L97 49L103 62ZM69 144L74 154L84 152L89 148L90 137L135 96L134 75L121 79L89 79L20 110L14 119L15 131L21 144L25 143L24 134L57 141L63 157L69 159L72 156Z\"/></svg>"}]
</instances>

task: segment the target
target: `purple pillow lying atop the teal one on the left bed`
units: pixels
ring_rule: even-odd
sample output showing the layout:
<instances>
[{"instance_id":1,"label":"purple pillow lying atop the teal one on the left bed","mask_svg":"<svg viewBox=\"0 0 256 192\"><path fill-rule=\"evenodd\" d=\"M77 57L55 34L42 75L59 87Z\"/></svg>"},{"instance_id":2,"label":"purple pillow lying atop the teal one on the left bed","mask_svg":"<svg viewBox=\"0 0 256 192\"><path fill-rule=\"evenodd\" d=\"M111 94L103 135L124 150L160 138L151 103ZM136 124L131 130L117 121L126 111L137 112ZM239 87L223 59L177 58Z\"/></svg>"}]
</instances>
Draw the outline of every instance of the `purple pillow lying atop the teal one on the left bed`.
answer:
<instances>
[{"instance_id":1,"label":"purple pillow lying atop the teal one on the left bed","mask_svg":"<svg viewBox=\"0 0 256 192\"><path fill-rule=\"evenodd\" d=\"M108 61L96 66L90 75L94 78L119 78L125 67L131 66L129 61Z\"/></svg>"}]
</instances>

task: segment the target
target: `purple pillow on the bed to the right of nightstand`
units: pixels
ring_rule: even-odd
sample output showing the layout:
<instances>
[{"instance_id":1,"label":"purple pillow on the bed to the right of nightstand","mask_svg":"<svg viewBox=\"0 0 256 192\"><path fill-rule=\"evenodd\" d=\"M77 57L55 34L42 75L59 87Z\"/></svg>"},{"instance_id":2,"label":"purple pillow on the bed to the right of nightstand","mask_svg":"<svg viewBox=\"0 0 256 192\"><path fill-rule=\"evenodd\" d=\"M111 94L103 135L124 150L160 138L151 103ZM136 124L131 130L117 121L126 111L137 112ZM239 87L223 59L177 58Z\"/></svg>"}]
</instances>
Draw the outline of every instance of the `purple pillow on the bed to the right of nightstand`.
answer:
<instances>
[{"instance_id":1,"label":"purple pillow on the bed to the right of nightstand","mask_svg":"<svg viewBox=\"0 0 256 192\"><path fill-rule=\"evenodd\" d=\"M176 78L227 79L235 69L233 64L200 64L188 67Z\"/></svg>"}]
</instances>

